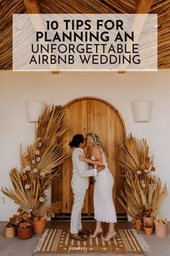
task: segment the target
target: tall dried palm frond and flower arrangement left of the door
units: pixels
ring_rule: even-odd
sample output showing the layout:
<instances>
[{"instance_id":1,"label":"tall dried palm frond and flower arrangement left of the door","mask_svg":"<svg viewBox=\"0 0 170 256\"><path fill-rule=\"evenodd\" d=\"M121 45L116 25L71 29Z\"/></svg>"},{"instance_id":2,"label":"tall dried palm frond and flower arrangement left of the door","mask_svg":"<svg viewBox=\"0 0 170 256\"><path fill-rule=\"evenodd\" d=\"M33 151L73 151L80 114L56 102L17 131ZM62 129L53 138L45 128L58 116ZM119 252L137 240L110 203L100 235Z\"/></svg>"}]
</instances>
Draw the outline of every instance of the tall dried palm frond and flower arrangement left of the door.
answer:
<instances>
[{"instance_id":1,"label":"tall dried palm frond and flower arrangement left of the door","mask_svg":"<svg viewBox=\"0 0 170 256\"><path fill-rule=\"evenodd\" d=\"M62 106L45 109L37 122L35 142L24 153L20 148L20 170L12 168L9 172L13 189L1 188L19 208L34 216L39 213L40 217L42 206L46 207L48 188L57 182L62 163L68 157L63 154L62 138L68 130L63 114Z\"/></svg>"}]
</instances>

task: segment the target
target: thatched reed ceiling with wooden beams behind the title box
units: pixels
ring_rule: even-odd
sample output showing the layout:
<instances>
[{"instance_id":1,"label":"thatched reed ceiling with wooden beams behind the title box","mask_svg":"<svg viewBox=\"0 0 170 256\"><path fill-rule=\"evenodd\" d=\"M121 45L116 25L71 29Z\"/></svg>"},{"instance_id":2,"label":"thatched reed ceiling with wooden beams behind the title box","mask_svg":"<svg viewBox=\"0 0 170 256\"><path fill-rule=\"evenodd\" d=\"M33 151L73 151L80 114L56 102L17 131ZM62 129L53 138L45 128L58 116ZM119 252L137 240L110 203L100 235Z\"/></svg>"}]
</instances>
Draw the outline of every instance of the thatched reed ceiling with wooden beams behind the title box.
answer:
<instances>
[{"instance_id":1,"label":"thatched reed ceiling with wooden beams behind the title box","mask_svg":"<svg viewBox=\"0 0 170 256\"><path fill-rule=\"evenodd\" d=\"M36 13L36 8L30 10L27 6L36 1L0 0L0 69L12 69L12 14ZM151 6L147 7L147 2ZM38 0L38 4L41 13L134 14L146 10L158 14L158 69L170 68L170 0Z\"/></svg>"}]
</instances>

